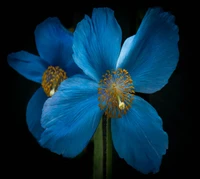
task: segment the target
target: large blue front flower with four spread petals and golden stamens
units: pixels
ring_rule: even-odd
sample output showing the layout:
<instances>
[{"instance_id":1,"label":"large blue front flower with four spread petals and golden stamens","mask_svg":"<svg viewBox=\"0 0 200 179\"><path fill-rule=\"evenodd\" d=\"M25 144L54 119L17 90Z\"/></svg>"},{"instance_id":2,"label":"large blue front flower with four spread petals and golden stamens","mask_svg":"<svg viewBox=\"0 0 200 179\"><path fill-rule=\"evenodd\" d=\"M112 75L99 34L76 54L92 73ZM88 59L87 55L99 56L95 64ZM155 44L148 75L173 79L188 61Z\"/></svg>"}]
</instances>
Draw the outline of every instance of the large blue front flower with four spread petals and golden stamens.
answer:
<instances>
[{"instance_id":1,"label":"large blue front flower with four spread petals and golden stamens","mask_svg":"<svg viewBox=\"0 0 200 179\"><path fill-rule=\"evenodd\" d=\"M156 173L168 135L156 110L135 92L151 94L167 84L179 58L178 27L173 15L152 8L122 47L121 39L109 8L96 8L91 18L78 23L73 58L87 77L66 80L45 102L39 142L52 152L75 157L105 113L119 157L142 173Z\"/></svg>"}]
</instances>

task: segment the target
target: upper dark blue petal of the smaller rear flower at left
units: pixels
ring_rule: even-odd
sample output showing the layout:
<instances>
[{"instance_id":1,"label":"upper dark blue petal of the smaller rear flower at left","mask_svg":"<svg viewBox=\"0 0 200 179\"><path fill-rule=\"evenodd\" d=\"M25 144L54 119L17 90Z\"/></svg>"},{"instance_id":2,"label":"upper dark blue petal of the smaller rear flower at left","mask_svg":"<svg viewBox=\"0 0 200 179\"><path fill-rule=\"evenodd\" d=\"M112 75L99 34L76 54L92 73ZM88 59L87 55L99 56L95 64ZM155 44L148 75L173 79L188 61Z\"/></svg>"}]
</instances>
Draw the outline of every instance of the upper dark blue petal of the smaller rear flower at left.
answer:
<instances>
[{"instance_id":1,"label":"upper dark blue petal of the smaller rear flower at left","mask_svg":"<svg viewBox=\"0 0 200 179\"><path fill-rule=\"evenodd\" d=\"M69 76L78 70L72 59L73 34L63 27L58 18L47 18L39 24L35 30L35 41L40 56L50 65L60 66Z\"/></svg>"}]
</instances>

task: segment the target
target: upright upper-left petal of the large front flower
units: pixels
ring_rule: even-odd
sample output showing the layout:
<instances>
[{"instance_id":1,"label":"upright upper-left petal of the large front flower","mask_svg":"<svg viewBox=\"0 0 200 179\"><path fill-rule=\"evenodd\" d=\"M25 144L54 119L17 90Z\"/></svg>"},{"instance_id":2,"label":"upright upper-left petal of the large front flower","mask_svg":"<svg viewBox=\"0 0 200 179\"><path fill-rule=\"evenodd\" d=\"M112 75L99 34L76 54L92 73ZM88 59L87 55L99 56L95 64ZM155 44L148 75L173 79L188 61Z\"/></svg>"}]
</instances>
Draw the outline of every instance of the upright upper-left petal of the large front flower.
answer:
<instances>
[{"instance_id":1,"label":"upright upper-left petal of the large front flower","mask_svg":"<svg viewBox=\"0 0 200 179\"><path fill-rule=\"evenodd\" d=\"M109 8L95 8L92 18L85 16L74 32L73 57L76 64L99 82L106 70L115 69L121 38L121 28L114 12Z\"/></svg>"}]
</instances>

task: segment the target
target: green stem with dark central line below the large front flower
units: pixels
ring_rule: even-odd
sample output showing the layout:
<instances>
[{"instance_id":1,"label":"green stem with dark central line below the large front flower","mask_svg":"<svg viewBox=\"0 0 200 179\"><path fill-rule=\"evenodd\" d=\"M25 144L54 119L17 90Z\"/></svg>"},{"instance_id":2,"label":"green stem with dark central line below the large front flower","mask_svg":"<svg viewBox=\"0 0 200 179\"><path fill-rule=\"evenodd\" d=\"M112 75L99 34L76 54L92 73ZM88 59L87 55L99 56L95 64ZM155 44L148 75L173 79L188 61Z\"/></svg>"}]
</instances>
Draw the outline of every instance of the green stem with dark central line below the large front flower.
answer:
<instances>
[{"instance_id":1,"label":"green stem with dark central line below the large front flower","mask_svg":"<svg viewBox=\"0 0 200 179\"><path fill-rule=\"evenodd\" d=\"M110 122L110 119L103 116L94 135L93 179L111 179L112 177Z\"/></svg>"}]
</instances>

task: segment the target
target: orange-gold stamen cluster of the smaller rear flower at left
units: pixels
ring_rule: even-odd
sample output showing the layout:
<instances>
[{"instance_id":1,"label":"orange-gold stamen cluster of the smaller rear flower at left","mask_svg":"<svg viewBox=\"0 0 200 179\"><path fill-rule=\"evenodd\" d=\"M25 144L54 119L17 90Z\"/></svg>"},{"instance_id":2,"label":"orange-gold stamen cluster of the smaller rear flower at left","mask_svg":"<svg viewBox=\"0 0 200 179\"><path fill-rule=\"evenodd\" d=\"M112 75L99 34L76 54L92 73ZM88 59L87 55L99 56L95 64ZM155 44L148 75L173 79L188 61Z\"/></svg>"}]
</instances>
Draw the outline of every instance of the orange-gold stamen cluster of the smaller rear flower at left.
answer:
<instances>
[{"instance_id":1,"label":"orange-gold stamen cluster of the smaller rear flower at left","mask_svg":"<svg viewBox=\"0 0 200 179\"><path fill-rule=\"evenodd\" d=\"M58 66L49 66L42 76L42 88L48 97L52 96L62 81L67 78L66 72Z\"/></svg>"}]
</instances>

